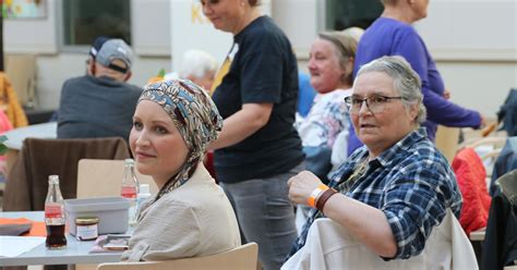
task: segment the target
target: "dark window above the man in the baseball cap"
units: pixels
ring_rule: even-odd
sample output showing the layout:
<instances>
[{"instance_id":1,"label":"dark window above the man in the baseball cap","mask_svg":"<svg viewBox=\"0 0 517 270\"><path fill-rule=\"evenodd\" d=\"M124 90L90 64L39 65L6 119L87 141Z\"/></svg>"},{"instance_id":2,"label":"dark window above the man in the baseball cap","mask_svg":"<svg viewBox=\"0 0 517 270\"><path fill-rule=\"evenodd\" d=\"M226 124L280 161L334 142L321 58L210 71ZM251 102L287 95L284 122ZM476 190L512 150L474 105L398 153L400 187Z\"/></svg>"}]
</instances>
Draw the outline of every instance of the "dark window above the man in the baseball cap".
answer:
<instances>
[{"instance_id":1,"label":"dark window above the man in the baseball cap","mask_svg":"<svg viewBox=\"0 0 517 270\"><path fill-rule=\"evenodd\" d=\"M131 44L130 0L64 0L63 45L91 45L98 36Z\"/></svg>"}]
</instances>

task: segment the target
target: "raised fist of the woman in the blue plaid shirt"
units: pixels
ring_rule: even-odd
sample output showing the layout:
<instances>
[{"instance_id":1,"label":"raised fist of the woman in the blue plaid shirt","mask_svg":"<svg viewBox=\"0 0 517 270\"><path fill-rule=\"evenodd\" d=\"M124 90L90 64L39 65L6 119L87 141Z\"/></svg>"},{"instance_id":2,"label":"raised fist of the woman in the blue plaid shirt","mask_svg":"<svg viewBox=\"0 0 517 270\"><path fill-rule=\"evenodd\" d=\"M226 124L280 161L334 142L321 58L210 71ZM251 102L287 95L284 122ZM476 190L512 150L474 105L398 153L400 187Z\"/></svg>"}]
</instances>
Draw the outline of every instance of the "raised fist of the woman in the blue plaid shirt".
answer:
<instances>
[{"instance_id":1,"label":"raised fist of the woman in the blue plaid shirt","mask_svg":"<svg viewBox=\"0 0 517 270\"><path fill-rule=\"evenodd\" d=\"M287 181L289 200L296 205L308 205L306 200L311 197L311 193L321 184L322 181L312 172L300 172Z\"/></svg>"}]
</instances>

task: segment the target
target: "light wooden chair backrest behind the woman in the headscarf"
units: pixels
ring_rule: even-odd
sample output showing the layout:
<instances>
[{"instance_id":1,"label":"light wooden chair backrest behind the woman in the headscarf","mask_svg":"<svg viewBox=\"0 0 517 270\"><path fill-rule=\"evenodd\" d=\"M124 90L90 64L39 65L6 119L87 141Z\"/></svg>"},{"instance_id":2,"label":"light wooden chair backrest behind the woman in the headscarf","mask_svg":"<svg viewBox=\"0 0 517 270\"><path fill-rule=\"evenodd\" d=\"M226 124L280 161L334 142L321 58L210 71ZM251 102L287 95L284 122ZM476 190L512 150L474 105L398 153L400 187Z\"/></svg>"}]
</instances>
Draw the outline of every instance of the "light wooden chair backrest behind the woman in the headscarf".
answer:
<instances>
[{"instance_id":1,"label":"light wooden chair backrest behind the woman in the headscarf","mask_svg":"<svg viewBox=\"0 0 517 270\"><path fill-rule=\"evenodd\" d=\"M107 262L100 263L98 270L169 270L169 269L239 269L255 270L258 256L258 246L255 243L236 247L231 250L195 258L184 258L166 261L141 262Z\"/></svg>"}]
</instances>

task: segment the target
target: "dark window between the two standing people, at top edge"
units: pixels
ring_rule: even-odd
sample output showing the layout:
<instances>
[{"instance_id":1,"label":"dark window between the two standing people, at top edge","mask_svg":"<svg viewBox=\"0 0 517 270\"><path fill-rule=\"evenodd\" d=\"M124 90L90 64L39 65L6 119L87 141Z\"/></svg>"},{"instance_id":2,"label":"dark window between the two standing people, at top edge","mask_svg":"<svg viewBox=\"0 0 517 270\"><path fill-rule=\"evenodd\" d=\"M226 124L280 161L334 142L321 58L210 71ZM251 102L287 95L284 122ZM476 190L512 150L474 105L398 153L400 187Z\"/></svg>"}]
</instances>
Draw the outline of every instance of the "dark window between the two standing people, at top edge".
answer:
<instances>
[{"instance_id":1,"label":"dark window between the two standing people, at top edge","mask_svg":"<svg viewBox=\"0 0 517 270\"><path fill-rule=\"evenodd\" d=\"M351 26L363 29L383 12L380 0L327 0L325 28L341 30Z\"/></svg>"}]
</instances>

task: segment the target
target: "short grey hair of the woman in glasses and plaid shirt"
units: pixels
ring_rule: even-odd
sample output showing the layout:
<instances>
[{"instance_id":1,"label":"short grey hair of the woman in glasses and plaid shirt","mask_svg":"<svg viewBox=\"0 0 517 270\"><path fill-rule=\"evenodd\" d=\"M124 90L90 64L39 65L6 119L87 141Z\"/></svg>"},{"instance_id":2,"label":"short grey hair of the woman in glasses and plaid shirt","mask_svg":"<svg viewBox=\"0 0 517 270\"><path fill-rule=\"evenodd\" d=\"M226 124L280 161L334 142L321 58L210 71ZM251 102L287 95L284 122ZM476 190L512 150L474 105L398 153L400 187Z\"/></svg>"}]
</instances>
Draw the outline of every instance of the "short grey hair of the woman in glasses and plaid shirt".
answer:
<instances>
[{"instance_id":1,"label":"short grey hair of the woman in glasses and plaid shirt","mask_svg":"<svg viewBox=\"0 0 517 270\"><path fill-rule=\"evenodd\" d=\"M426 111L423 106L423 95L420 76L402 57L382 57L361 66L356 79L363 73L382 72L393 79L395 93L402 97L401 101L407 110L418 105L418 114L414 122L421 124L425 121Z\"/></svg>"}]
</instances>

